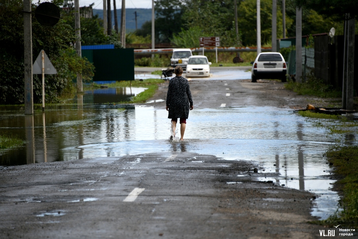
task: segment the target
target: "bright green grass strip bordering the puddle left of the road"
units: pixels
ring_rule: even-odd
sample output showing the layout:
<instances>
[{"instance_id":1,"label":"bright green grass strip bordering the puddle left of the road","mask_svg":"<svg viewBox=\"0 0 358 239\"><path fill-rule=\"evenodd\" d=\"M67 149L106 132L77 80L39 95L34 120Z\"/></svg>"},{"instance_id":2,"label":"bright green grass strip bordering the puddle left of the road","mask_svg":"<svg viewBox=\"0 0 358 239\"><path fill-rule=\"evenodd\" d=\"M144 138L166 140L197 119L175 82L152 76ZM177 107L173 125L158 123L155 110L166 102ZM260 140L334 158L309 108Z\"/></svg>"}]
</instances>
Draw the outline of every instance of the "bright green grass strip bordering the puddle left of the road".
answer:
<instances>
[{"instance_id":1,"label":"bright green grass strip bordering the puddle left of the road","mask_svg":"<svg viewBox=\"0 0 358 239\"><path fill-rule=\"evenodd\" d=\"M161 79L146 79L143 81L117 81L116 83L109 84L108 87L144 87L147 88L145 91L137 94L131 101L128 102L121 102L121 103L139 103L145 102L149 98L151 98L155 91L158 89L158 84L165 82Z\"/></svg>"}]
</instances>

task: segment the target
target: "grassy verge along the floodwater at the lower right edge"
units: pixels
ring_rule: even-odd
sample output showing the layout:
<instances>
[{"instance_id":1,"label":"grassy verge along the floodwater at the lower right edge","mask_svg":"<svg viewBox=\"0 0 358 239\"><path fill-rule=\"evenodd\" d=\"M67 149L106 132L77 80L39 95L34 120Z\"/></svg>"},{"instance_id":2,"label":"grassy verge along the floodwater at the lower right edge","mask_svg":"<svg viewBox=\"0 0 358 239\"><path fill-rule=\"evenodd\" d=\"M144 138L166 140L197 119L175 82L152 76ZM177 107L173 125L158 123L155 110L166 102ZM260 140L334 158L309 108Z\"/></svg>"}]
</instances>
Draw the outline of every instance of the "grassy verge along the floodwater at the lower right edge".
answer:
<instances>
[{"instance_id":1,"label":"grassy verge along the floodwater at the lower right edge","mask_svg":"<svg viewBox=\"0 0 358 239\"><path fill-rule=\"evenodd\" d=\"M334 135L336 142L326 151L325 156L339 178L334 187L340 192L339 205L342 210L326 220L312 223L358 229L358 146L355 140L358 122L341 115L310 111L299 111L299 114L309 117L313 125L325 128L328 135Z\"/></svg>"}]
</instances>

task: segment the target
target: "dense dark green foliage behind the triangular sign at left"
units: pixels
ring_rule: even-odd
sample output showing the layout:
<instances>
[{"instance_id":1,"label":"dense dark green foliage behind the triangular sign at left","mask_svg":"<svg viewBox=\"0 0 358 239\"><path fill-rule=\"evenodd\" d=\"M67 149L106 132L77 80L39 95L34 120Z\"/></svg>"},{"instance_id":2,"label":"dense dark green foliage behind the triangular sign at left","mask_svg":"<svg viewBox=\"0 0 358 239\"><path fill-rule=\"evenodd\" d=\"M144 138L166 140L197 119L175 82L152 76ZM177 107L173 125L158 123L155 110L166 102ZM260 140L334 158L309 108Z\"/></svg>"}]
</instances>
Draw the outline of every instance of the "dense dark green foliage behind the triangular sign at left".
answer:
<instances>
[{"instance_id":1,"label":"dense dark green foliage behind the triangular sign at left","mask_svg":"<svg viewBox=\"0 0 358 239\"><path fill-rule=\"evenodd\" d=\"M61 1L54 1L61 4ZM24 37L23 1L0 0L0 104L21 104L24 102ZM35 10L35 5L33 5ZM55 75L45 75L45 100L58 102L58 96L72 84L77 73L82 72L84 80L93 76L93 65L87 59L77 57L70 42L75 42L74 29L67 18L60 19L54 27L44 27L32 19L33 61L42 49L57 70ZM42 100L41 76L33 76L34 102Z\"/></svg>"}]
</instances>

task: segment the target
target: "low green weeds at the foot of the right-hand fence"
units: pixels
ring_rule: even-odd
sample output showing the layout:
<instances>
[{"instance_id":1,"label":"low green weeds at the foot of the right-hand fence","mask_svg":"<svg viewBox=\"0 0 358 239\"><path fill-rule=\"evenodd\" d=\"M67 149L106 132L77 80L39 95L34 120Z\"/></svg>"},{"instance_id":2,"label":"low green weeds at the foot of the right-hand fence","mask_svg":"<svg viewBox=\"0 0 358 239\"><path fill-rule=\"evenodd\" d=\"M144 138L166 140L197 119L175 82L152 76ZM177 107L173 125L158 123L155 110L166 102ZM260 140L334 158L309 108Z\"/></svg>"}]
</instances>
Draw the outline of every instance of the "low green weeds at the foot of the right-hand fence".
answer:
<instances>
[{"instance_id":1,"label":"low green weeds at the foot of the right-hand fence","mask_svg":"<svg viewBox=\"0 0 358 239\"><path fill-rule=\"evenodd\" d=\"M323 98L341 97L342 92L335 90L332 85L326 85L321 79L308 75L306 82L298 83L289 81L285 85L287 90L297 92L298 95L312 95Z\"/></svg>"}]
</instances>

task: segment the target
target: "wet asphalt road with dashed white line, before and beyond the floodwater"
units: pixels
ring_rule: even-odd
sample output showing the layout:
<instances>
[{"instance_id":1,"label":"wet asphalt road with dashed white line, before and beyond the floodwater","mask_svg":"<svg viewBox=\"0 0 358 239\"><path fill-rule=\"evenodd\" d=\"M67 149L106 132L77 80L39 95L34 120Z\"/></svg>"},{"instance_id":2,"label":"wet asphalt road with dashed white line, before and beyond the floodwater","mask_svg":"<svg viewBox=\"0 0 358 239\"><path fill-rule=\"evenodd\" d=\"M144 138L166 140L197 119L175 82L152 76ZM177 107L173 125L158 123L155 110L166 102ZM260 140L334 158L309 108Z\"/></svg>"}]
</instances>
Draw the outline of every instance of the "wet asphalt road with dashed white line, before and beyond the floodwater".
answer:
<instances>
[{"instance_id":1,"label":"wet asphalt road with dashed white line, before and beyond the floodwater","mask_svg":"<svg viewBox=\"0 0 358 239\"><path fill-rule=\"evenodd\" d=\"M191 81L195 108L305 104L281 83L231 83ZM166 84L153 99L165 97ZM227 101L227 89L245 94ZM169 153L0 167L0 238L319 238L328 230L307 223L317 219L315 195L257 181L276 173L173 145Z\"/></svg>"}]
</instances>

